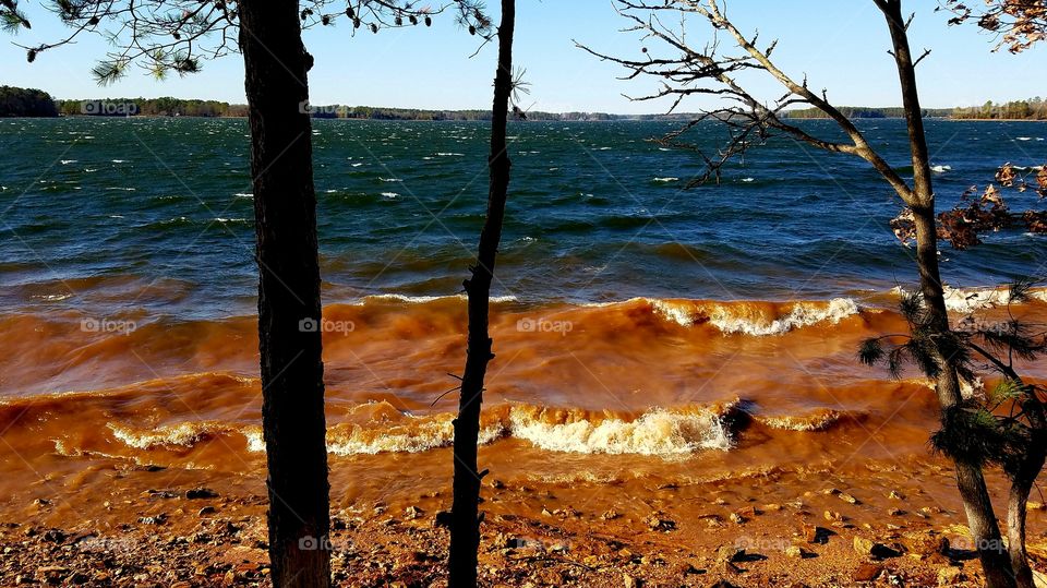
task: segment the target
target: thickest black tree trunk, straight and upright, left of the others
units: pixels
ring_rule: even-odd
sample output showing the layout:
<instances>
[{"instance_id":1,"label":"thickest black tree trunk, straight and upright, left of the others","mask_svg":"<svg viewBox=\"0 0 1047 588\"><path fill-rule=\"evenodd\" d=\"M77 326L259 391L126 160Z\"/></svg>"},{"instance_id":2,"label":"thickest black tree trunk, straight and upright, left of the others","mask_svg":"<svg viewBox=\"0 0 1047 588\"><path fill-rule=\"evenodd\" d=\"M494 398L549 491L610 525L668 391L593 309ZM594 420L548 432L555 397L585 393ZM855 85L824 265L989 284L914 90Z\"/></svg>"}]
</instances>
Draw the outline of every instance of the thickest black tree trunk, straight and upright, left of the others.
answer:
<instances>
[{"instance_id":1,"label":"thickest black tree trunk, straight and upright, left of the others","mask_svg":"<svg viewBox=\"0 0 1047 588\"><path fill-rule=\"evenodd\" d=\"M330 585L316 195L298 3L243 0L273 585Z\"/></svg>"}]
</instances>

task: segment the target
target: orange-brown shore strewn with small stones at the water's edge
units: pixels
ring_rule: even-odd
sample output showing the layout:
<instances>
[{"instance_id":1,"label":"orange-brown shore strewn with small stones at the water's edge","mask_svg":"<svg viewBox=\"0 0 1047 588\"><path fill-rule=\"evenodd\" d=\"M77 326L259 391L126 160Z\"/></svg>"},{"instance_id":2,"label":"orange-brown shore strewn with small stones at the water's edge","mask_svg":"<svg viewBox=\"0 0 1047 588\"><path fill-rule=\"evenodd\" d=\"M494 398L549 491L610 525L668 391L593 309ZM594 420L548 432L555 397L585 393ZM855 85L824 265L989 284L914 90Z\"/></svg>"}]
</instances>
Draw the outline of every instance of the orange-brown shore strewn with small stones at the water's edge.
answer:
<instances>
[{"instance_id":1,"label":"orange-brown shore strewn with small stones at the water's edge","mask_svg":"<svg viewBox=\"0 0 1047 588\"><path fill-rule=\"evenodd\" d=\"M658 488L484 488L484 586L978 586L944 466L922 480L869 464L861 481L826 471L763 472ZM152 477L152 478L151 478ZM58 516L75 494L3 505L0 585L266 586L257 484L140 491L148 468L112 488L100 515ZM125 492L124 492L125 491ZM590 500L593 492L598 500ZM398 494L334 511L339 586L445 586L448 492ZM406 505L406 506L405 506ZM1036 507L1037 505L1034 505ZM1039 506L1042 508L1042 506ZM1044 567L1044 513L1030 515Z\"/></svg>"}]
</instances>

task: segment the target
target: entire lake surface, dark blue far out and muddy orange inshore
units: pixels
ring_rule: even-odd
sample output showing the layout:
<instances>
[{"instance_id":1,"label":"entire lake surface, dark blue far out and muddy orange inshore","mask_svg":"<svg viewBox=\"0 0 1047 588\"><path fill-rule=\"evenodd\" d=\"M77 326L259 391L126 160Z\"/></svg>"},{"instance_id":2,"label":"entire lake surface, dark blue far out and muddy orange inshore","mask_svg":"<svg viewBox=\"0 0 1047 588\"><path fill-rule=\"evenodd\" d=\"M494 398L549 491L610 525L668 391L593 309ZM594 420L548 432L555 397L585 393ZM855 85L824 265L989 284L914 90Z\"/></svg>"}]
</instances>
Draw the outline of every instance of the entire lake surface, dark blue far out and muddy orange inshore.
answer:
<instances>
[{"instance_id":1,"label":"entire lake surface, dark blue far out and muddy orange inshore","mask_svg":"<svg viewBox=\"0 0 1047 588\"><path fill-rule=\"evenodd\" d=\"M906 173L903 123L859 122ZM888 227L896 196L863 161L789 141L684 190L696 157L647 141L671 129L513 124L481 461L527 484L628 472L630 495L815 463L858 479L868 460L930 467L930 388L855 360L863 338L906 328L892 290L915 266ZM344 500L446 482L457 398L442 394L465 358L457 295L483 220L486 133L314 121L324 317L352 326L324 336ZM939 202L1004 161L1045 159L1044 123L928 121L928 133ZM108 495L112 471L142 465L224 493L262 479L248 141L242 120L0 121L10 504L40 476ZM976 287L1044 273L1042 237L986 241L941 252L956 316L1004 316ZM1011 310L1047 319L1043 300Z\"/></svg>"}]
</instances>

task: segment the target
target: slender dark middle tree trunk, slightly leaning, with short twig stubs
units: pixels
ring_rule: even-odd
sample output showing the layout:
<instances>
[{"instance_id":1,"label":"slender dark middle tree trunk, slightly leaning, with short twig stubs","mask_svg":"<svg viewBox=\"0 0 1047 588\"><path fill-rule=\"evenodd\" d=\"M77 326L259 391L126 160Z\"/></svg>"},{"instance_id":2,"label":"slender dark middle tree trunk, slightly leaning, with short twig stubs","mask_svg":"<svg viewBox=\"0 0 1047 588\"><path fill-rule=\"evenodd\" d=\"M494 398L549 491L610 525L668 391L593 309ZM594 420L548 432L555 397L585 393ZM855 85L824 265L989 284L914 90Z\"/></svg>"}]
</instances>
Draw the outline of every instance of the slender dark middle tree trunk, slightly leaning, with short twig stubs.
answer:
<instances>
[{"instance_id":1,"label":"slender dark middle tree trunk, slightly leaning, with short twig stubs","mask_svg":"<svg viewBox=\"0 0 1047 588\"><path fill-rule=\"evenodd\" d=\"M480 405L488 362L494 359L488 334L491 279L502 240L502 219L509 188L509 157L506 153L506 121L513 92L513 29L515 0L502 0L498 26L498 69L494 76L494 104L491 112L491 155L488 158L490 182L488 214L480 232L479 255L472 277L465 280L469 296L469 335L466 369L455 419L454 504L450 519L450 586L477 586L477 552L480 549L480 483L484 473L477 469L477 443L480 436Z\"/></svg>"}]
</instances>

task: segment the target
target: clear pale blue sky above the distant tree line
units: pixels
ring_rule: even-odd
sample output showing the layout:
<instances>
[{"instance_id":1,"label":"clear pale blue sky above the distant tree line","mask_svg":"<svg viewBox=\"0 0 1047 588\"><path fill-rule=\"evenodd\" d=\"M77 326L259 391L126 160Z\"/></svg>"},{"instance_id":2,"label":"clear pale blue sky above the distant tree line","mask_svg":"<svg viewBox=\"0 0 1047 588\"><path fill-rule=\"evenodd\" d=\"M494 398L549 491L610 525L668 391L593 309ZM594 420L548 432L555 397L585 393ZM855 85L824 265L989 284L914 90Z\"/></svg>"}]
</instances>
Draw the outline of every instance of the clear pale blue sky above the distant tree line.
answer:
<instances>
[{"instance_id":1,"label":"clear pale blue sky above the distant tree line","mask_svg":"<svg viewBox=\"0 0 1047 588\"><path fill-rule=\"evenodd\" d=\"M497 0L490 0L497 15ZM1001 101L1047 95L1040 82L1047 70L1047 46L1020 56L992 53L992 38L975 26L949 27L947 15L935 13L935 0L910 0L915 11L910 29L914 51L932 49L919 67L923 104L926 107L970 106L987 99ZM156 81L132 70L117 84L100 88L88 73L107 49L97 36L76 45L41 53L26 63L14 40L35 45L63 33L57 19L38 3L22 0L33 23L32 31L0 43L0 83L38 87L58 98L87 97L198 97L242 103L243 65L240 56L205 62L203 72ZM839 105L892 106L900 103L893 61L887 55L889 35L871 0L731 0L727 14L746 32L760 31L760 38L780 39L774 56L785 71L809 84L829 89ZM549 111L661 112L669 104L636 103L622 94L642 95L652 81L623 82L621 67L603 63L577 49L573 39L603 52L639 57L641 43L635 34L621 33L627 23L610 0L519 0L515 61L526 68L531 94L521 106ZM496 47L488 45L478 56L477 37L458 28L449 15L424 26L384 29L377 35L351 35L339 21L335 27L311 29L305 43L316 59L310 72L314 105L348 104L414 108L490 108ZM688 40L705 45L708 26L695 22ZM657 43L646 44L657 55ZM773 98L781 94L773 83L751 79L757 93ZM710 106L708 99L685 101L681 110Z\"/></svg>"}]
</instances>

